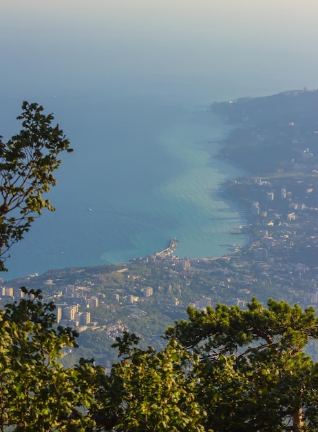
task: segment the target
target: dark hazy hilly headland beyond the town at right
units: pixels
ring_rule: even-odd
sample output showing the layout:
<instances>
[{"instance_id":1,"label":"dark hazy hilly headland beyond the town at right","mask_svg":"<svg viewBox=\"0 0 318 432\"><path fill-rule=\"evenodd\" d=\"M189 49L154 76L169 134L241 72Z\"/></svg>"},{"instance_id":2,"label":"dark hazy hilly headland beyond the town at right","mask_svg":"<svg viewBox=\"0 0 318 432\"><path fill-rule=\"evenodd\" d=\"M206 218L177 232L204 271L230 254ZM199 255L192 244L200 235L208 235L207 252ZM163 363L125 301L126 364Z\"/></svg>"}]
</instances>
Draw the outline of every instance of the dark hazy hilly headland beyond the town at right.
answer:
<instances>
[{"instance_id":1,"label":"dark hazy hilly headland beyond the town at right","mask_svg":"<svg viewBox=\"0 0 318 432\"><path fill-rule=\"evenodd\" d=\"M263 175L301 159L304 147L318 148L317 90L213 103L211 110L233 129L222 142L221 155Z\"/></svg>"}]
</instances>

